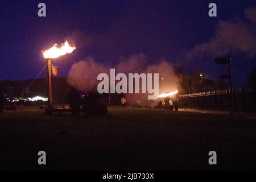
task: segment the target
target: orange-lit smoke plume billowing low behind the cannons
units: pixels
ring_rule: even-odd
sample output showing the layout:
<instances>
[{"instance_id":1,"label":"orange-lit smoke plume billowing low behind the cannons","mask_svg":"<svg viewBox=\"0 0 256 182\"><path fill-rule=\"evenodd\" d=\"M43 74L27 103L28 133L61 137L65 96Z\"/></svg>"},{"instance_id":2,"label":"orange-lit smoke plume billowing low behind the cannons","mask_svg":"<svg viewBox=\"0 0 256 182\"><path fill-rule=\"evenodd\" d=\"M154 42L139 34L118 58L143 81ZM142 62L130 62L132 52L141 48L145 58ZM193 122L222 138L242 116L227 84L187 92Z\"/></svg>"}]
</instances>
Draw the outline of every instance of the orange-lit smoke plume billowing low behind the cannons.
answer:
<instances>
[{"instance_id":1,"label":"orange-lit smoke plume billowing low behind the cannons","mask_svg":"<svg viewBox=\"0 0 256 182\"><path fill-rule=\"evenodd\" d=\"M179 84L174 68L167 60L162 59L158 64L149 64L147 57L143 54L121 59L115 66L97 63L92 57L88 57L72 65L68 73L68 84L82 92L96 91L100 82L97 80L98 74L107 73L109 75L110 68L115 68L115 75L125 73L127 77L128 73L159 73L159 94L174 91ZM148 102L147 96L148 94L126 94L125 97L129 103L134 103L137 100L146 103Z\"/></svg>"}]
</instances>

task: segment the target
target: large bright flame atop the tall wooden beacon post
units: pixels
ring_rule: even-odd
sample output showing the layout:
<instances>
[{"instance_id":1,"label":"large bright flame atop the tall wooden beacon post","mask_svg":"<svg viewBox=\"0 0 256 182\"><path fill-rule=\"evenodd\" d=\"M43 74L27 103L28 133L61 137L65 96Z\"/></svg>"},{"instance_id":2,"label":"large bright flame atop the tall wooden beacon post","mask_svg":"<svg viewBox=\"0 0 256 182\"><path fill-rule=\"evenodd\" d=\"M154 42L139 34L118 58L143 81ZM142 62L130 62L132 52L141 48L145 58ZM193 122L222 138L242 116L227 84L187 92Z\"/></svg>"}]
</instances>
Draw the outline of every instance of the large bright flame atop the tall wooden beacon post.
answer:
<instances>
[{"instance_id":1,"label":"large bright flame atop the tall wooden beacon post","mask_svg":"<svg viewBox=\"0 0 256 182\"><path fill-rule=\"evenodd\" d=\"M63 56L66 53L71 53L76 49L75 46L71 47L66 40L65 43L61 44L61 47L57 47L57 44L54 44L53 47L49 48L47 51L43 51L43 55L45 58L56 58L59 56Z\"/></svg>"}]
</instances>

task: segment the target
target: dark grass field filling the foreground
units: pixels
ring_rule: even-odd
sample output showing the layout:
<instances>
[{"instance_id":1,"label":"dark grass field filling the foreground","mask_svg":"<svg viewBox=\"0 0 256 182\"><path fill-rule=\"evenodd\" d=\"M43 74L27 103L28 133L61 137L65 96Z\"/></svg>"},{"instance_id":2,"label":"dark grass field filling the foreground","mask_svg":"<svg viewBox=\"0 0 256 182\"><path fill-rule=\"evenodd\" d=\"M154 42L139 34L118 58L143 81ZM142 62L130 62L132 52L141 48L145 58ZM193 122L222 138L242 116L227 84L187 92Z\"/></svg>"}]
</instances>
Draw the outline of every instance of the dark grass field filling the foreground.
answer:
<instances>
[{"instance_id":1,"label":"dark grass field filling the foreground","mask_svg":"<svg viewBox=\"0 0 256 182\"><path fill-rule=\"evenodd\" d=\"M38 165L38 151L47 165ZM209 166L208 152L217 152ZM0 115L0 169L256 169L256 123L170 110L109 107L104 117Z\"/></svg>"}]
</instances>

